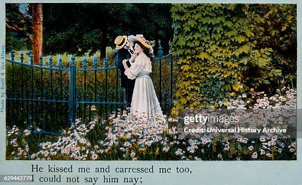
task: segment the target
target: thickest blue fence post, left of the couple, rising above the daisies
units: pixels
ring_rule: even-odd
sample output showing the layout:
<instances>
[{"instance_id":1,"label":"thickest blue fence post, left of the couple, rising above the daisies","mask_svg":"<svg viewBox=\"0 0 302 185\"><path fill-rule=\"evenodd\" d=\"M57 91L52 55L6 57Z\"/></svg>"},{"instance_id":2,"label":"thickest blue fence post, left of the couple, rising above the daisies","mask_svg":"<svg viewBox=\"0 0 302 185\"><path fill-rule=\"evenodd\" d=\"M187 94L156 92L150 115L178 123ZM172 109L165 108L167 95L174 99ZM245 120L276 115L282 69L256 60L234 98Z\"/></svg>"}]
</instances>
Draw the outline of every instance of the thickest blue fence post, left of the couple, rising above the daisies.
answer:
<instances>
[{"instance_id":1,"label":"thickest blue fence post, left of the couple, rising above the daisies","mask_svg":"<svg viewBox=\"0 0 302 185\"><path fill-rule=\"evenodd\" d=\"M76 63L75 57L70 57L70 91L69 91L69 108L70 122L76 123Z\"/></svg>"}]
</instances>

